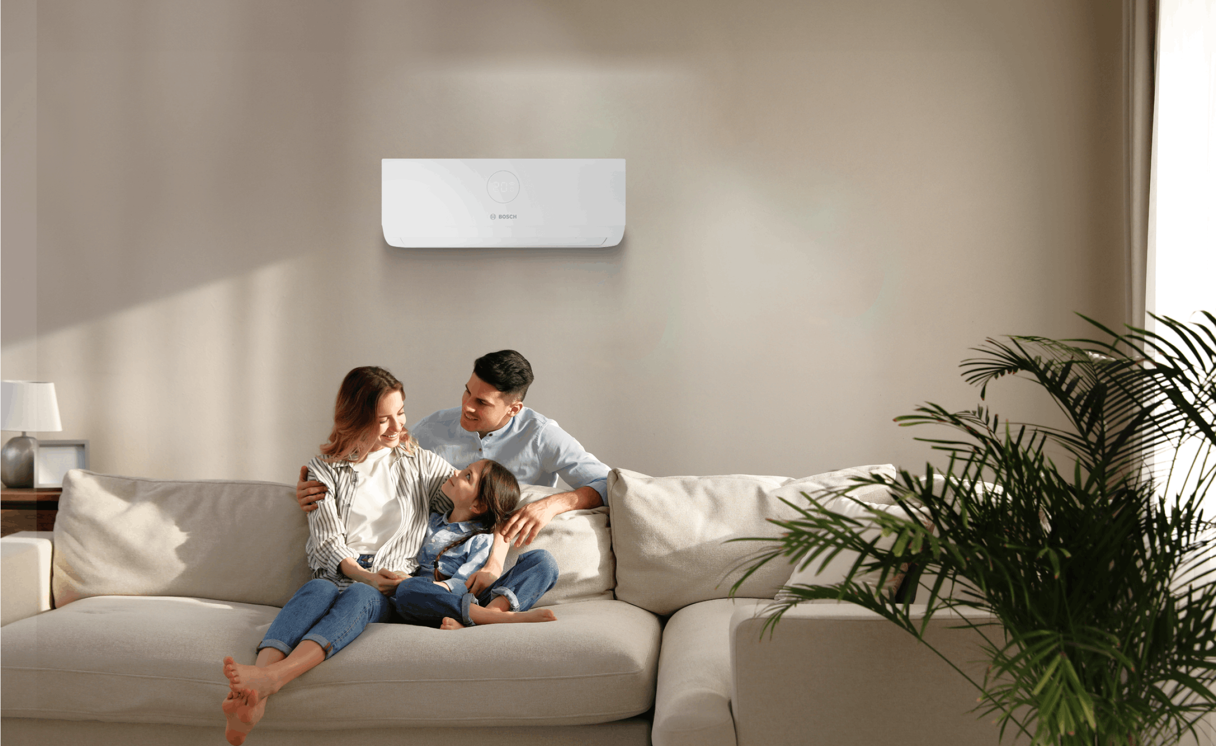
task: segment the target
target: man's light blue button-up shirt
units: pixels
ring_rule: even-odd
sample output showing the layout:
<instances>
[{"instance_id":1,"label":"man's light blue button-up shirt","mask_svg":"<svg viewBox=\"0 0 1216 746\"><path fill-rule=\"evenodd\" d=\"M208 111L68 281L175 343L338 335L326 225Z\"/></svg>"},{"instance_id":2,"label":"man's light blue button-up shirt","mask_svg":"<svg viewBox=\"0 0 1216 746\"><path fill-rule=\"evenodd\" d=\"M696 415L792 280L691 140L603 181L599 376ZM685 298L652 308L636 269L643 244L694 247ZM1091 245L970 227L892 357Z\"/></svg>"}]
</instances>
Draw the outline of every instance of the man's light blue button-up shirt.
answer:
<instances>
[{"instance_id":1,"label":"man's light blue button-up shirt","mask_svg":"<svg viewBox=\"0 0 1216 746\"><path fill-rule=\"evenodd\" d=\"M608 467L584 450L574 437L536 410L519 414L485 437L460 426L460 406L440 409L410 428L418 445L443 456L456 469L480 459L494 459L516 475L520 484L553 487L557 477L573 489L591 487L603 499Z\"/></svg>"}]
</instances>

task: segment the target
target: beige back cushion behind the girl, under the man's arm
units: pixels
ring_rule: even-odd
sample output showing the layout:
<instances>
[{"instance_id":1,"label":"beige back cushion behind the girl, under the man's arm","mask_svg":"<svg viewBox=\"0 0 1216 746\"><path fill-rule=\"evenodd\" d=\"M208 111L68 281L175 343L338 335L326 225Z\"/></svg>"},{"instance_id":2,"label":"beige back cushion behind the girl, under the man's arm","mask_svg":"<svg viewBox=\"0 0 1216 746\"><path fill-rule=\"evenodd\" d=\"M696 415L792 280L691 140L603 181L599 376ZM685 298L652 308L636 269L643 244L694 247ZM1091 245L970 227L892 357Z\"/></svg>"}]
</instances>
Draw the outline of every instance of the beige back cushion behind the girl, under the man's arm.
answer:
<instances>
[{"instance_id":1,"label":"beige back cushion behind the girl, under the man's arm","mask_svg":"<svg viewBox=\"0 0 1216 746\"><path fill-rule=\"evenodd\" d=\"M519 505L535 503L551 494L565 492L557 487L522 484ZM531 544L513 545L502 563L511 570L522 553L546 549L557 561L561 574L557 584L542 595L536 606L572 604L575 601L612 600L617 585L617 561L612 553L612 532L608 529L608 509L570 510L554 516Z\"/></svg>"}]
</instances>

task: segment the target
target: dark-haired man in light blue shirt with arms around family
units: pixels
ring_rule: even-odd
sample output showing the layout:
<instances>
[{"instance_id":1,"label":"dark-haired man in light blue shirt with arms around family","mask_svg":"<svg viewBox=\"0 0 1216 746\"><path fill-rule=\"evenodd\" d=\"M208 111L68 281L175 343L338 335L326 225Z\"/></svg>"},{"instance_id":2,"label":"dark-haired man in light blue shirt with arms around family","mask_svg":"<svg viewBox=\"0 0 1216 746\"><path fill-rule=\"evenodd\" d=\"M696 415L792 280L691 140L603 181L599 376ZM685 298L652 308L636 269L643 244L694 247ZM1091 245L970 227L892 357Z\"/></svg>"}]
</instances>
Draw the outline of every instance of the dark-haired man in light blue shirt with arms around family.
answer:
<instances>
[{"instance_id":1,"label":"dark-haired man in light blue shirt with arms around family","mask_svg":"<svg viewBox=\"0 0 1216 746\"><path fill-rule=\"evenodd\" d=\"M516 511L501 539L495 535L485 567L468 578L466 585L474 594L502 574L512 540L516 546L531 544L553 516L603 505L608 467L557 422L524 406L533 380L531 365L513 349L483 355L473 363L461 405L427 415L410 428L418 445L456 469L494 459L511 470L520 484L553 487L561 476L574 487ZM308 470L302 469L295 499L304 511L316 510L314 503L325 498L326 488L320 482L305 482Z\"/></svg>"}]
</instances>

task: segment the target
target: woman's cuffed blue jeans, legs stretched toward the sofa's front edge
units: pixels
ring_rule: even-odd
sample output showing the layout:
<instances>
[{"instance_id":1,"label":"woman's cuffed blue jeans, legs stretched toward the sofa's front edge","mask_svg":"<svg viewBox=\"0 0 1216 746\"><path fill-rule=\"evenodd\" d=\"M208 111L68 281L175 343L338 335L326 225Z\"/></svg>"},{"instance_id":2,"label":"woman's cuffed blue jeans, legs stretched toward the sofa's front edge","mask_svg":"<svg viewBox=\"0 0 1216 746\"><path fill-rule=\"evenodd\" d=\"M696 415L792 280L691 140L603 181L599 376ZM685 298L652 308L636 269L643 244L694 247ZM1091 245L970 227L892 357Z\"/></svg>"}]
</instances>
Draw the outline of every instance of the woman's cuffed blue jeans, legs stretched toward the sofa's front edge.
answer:
<instances>
[{"instance_id":1,"label":"woman's cuffed blue jeans, legs stretched toward the sofa's front edge","mask_svg":"<svg viewBox=\"0 0 1216 746\"><path fill-rule=\"evenodd\" d=\"M393 604L371 585L353 583L339 590L330 580L315 578L295 591L270 623L258 650L274 647L283 655L304 640L325 650L328 660L345 647L372 622L388 622Z\"/></svg>"}]
</instances>

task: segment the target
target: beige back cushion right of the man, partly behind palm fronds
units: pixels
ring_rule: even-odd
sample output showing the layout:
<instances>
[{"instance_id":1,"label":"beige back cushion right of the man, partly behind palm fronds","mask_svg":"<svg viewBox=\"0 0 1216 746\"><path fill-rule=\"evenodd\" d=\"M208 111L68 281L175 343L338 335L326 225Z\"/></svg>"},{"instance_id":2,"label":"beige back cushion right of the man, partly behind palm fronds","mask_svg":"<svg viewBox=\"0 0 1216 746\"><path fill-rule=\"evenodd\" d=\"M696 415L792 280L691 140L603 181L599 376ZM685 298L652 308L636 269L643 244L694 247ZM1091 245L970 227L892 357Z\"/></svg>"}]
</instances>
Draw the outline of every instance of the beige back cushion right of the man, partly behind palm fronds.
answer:
<instances>
[{"instance_id":1,"label":"beige back cushion right of the man, partly behind palm fronds","mask_svg":"<svg viewBox=\"0 0 1216 746\"><path fill-rule=\"evenodd\" d=\"M858 466L806 479L751 475L648 477L614 469L608 475L608 506L617 598L663 615L697 601L724 599L750 560L771 546L730 539L777 537L781 529L769 518L798 515L779 498L804 500L790 487L843 486L850 477L876 469L882 467ZM771 599L792 571L788 562L769 562L743 583L738 595Z\"/></svg>"}]
</instances>

